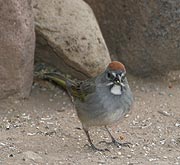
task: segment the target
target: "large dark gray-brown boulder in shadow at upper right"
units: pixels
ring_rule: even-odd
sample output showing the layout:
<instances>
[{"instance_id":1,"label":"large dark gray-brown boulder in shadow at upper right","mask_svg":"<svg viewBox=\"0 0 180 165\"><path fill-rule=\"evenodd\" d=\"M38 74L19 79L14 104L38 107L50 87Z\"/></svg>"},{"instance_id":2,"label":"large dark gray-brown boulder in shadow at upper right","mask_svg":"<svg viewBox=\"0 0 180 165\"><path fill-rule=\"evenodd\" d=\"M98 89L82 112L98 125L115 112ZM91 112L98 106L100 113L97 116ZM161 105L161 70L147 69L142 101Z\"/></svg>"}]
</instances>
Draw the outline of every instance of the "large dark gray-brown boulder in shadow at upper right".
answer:
<instances>
[{"instance_id":1,"label":"large dark gray-brown boulder in shadow at upper right","mask_svg":"<svg viewBox=\"0 0 180 165\"><path fill-rule=\"evenodd\" d=\"M180 1L85 0L93 8L112 54L132 73L180 69Z\"/></svg>"}]
</instances>

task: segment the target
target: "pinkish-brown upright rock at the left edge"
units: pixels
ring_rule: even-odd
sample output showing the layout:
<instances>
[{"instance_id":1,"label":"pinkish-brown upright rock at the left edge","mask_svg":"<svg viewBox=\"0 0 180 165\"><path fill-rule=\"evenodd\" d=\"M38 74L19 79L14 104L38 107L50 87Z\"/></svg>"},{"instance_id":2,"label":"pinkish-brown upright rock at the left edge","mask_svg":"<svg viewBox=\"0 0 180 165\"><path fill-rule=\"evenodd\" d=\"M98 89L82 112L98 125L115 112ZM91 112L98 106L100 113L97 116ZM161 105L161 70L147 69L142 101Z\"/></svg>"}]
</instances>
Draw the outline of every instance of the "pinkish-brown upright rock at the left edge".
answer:
<instances>
[{"instance_id":1,"label":"pinkish-brown upright rock at the left edge","mask_svg":"<svg viewBox=\"0 0 180 165\"><path fill-rule=\"evenodd\" d=\"M31 0L0 1L0 98L29 95L35 47Z\"/></svg>"}]
</instances>

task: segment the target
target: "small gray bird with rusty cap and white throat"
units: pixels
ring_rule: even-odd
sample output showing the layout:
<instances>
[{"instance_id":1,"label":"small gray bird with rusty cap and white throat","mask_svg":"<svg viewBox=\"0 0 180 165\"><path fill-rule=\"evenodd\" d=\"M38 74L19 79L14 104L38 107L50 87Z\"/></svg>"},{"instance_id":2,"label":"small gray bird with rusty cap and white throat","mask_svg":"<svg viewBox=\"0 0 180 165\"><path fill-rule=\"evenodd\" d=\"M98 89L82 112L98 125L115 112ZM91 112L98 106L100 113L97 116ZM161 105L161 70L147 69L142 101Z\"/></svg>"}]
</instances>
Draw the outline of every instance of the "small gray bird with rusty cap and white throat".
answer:
<instances>
[{"instance_id":1,"label":"small gray bird with rusty cap and white throat","mask_svg":"<svg viewBox=\"0 0 180 165\"><path fill-rule=\"evenodd\" d=\"M112 140L111 143L117 147L129 147L131 143L117 141L108 129L109 125L118 122L130 111L134 100L124 64L112 61L102 73L84 81L71 80L57 72L44 73L43 78L67 90L93 150L106 150L97 148L93 144L89 134L93 126L104 127Z\"/></svg>"}]
</instances>

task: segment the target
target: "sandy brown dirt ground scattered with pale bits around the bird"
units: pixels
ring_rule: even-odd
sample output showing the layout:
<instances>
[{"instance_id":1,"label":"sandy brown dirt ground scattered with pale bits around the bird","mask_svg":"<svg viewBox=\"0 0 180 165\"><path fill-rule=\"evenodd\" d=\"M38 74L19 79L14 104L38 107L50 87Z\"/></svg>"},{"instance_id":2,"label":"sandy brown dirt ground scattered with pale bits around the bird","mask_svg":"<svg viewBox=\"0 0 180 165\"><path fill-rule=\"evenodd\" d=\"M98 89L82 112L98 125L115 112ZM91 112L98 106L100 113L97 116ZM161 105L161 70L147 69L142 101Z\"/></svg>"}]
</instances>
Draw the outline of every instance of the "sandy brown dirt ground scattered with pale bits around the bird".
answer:
<instances>
[{"instance_id":1,"label":"sandy brown dirt ground scattered with pale bits around the bird","mask_svg":"<svg viewBox=\"0 0 180 165\"><path fill-rule=\"evenodd\" d=\"M36 81L29 99L0 103L0 164L180 165L180 72L167 77L129 76L135 102L130 114L110 127L130 148L116 148L103 128L90 135L99 148L88 146L66 92Z\"/></svg>"}]
</instances>

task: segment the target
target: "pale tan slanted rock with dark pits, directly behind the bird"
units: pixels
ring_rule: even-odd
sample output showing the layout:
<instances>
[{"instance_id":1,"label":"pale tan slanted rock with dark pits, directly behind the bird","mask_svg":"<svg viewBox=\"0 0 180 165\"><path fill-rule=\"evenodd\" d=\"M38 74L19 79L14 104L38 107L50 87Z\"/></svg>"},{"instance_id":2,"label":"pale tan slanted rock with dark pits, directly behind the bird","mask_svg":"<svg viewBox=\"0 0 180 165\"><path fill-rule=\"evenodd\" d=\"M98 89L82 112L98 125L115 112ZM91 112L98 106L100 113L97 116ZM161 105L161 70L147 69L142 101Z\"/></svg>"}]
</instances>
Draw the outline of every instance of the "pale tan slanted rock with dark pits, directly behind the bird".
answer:
<instances>
[{"instance_id":1,"label":"pale tan slanted rock with dark pits, directly behind the bird","mask_svg":"<svg viewBox=\"0 0 180 165\"><path fill-rule=\"evenodd\" d=\"M91 8L82 0L34 0L36 58L78 78L95 76L110 62Z\"/></svg>"}]
</instances>

